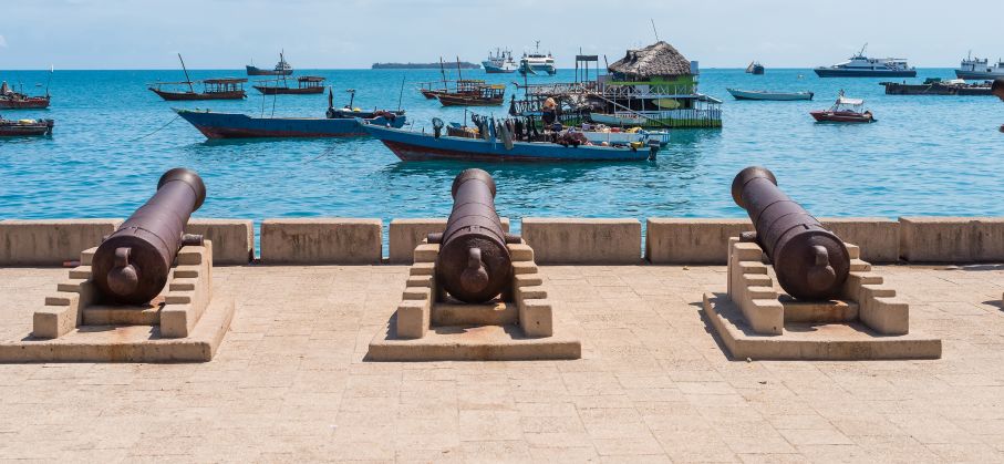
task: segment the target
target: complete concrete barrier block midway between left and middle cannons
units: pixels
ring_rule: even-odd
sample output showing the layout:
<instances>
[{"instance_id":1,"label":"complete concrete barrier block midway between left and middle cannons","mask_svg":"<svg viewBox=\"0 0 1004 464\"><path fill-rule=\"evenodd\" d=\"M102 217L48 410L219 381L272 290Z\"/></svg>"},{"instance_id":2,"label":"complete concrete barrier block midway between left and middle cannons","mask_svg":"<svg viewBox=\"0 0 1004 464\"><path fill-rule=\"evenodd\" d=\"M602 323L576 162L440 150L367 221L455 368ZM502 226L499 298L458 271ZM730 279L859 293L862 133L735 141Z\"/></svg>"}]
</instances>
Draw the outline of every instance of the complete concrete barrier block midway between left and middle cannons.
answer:
<instances>
[{"instance_id":1,"label":"complete concrete barrier block midway between left and middle cannons","mask_svg":"<svg viewBox=\"0 0 1004 464\"><path fill-rule=\"evenodd\" d=\"M261 262L379 265L380 219L294 218L261 223Z\"/></svg>"}]
</instances>

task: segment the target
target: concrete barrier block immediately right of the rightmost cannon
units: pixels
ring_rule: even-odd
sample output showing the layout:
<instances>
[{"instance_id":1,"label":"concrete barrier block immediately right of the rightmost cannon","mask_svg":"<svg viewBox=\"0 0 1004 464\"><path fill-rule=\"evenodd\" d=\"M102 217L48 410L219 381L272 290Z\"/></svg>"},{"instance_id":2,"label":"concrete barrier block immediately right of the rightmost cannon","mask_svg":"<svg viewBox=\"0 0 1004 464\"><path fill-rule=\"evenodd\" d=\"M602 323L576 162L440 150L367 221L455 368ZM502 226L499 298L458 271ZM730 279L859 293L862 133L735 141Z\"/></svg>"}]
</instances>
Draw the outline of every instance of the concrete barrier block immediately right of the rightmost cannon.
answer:
<instances>
[{"instance_id":1,"label":"concrete barrier block immediately right of the rightmost cannon","mask_svg":"<svg viewBox=\"0 0 1004 464\"><path fill-rule=\"evenodd\" d=\"M883 217L821 218L822 226L841 240L860 248L860 258L868 262L899 260L899 221Z\"/></svg>"}]
</instances>

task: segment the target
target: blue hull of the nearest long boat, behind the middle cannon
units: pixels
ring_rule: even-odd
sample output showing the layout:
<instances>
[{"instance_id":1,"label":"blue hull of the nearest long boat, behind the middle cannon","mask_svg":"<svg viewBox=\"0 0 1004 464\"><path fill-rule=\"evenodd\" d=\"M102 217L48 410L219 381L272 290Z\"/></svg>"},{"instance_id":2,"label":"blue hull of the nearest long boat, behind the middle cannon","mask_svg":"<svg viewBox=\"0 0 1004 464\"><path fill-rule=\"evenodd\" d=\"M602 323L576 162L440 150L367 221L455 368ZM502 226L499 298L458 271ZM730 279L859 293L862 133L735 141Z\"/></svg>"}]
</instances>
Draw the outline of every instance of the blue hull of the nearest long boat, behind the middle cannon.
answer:
<instances>
[{"instance_id":1,"label":"blue hull of the nearest long boat, behind the middle cannon","mask_svg":"<svg viewBox=\"0 0 1004 464\"><path fill-rule=\"evenodd\" d=\"M366 132L383 142L402 161L465 159L484 162L627 162L649 158L649 149L601 146L565 147L558 144L514 142L507 149L501 141L439 136L366 124Z\"/></svg>"}]
</instances>

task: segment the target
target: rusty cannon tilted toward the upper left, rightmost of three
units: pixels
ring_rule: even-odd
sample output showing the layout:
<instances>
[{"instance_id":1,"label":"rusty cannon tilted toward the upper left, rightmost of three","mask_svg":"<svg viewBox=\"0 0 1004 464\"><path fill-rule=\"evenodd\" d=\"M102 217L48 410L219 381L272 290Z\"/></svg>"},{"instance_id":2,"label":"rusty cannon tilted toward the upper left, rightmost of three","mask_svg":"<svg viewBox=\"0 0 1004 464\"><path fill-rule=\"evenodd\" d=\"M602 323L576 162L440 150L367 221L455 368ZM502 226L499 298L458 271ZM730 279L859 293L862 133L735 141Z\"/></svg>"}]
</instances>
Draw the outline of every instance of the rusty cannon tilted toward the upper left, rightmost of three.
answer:
<instances>
[{"instance_id":1,"label":"rusty cannon tilted toward the upper left, rightmost of three","mask_svg":"<svg viewBox=\"0 0 1004 464\"><path fill-rule=\"evenodd\" d=\"M774 173L757 166L741 171L732 182L732 198L756 230L741 239L759 244L788 295L801 300L839 296L850 270L843 240L785 195Z\"/></svg>"}]
</instances>

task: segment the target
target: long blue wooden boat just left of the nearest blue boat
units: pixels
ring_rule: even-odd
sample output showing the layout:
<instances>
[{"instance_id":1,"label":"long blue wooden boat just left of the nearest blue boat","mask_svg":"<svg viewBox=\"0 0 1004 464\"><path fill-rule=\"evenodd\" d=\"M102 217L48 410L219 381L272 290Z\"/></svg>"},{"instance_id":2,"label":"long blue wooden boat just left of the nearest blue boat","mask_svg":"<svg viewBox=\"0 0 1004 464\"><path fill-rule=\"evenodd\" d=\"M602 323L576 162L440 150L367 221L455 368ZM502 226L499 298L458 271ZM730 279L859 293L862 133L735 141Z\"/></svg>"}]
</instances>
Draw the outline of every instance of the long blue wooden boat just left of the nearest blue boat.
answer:
<instances>
[{"instance_id":1,"label":"long blue wooden boat just left of the nearest blue boat","mask_svg":"<svg viewBox=\"0 0 1004 464\"><path fill-rule=\"evenodd\" d=\"M354 99L354 92L353 92ZM299 138L299 137L359 137L368 135L360 122L368 124L402 127L407 121L404 111L362 111L332 105L333 95L328 93L325 117L252 117L241 113L214 113L209 110L178 110L178 116L188 121L206 138Z\"/></svg>"}]
</instances>

